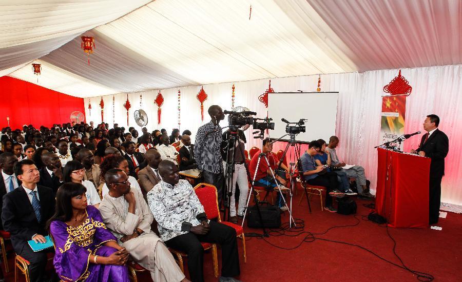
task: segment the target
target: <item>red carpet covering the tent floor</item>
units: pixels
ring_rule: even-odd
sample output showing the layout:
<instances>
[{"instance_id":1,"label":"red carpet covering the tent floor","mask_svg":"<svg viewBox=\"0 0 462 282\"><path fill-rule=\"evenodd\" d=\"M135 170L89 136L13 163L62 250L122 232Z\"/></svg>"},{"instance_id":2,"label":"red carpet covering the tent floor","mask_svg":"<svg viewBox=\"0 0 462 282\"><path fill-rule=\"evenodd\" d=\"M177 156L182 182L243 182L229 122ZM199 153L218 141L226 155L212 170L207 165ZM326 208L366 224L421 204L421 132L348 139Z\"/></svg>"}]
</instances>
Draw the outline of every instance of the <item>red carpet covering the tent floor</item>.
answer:
<instances>
[{"instance_id":1,"label":"red carpet covering the tent floor","mask_svg":"<svg viewBox=\"0 0 462 282\"><path fill-rule=\"evenodd\" d=\"M360 245L377 255L400 264L393 254L393 241L387 235L387 228L380 227L359 215L367 215L369 209L363 204L370 202L357 200L358 212L353 215L321 212L319 198L312 199L312 213L309 214L306 199L300 206L298 200L301 192L294 197L295 218L304 220L304 231L323 233L331 227L355 225L352 227L333 228L317 238L343 241ZM288 213L283 215L288 222ZM396 253L407 267L430 273L434 281L462 280L462 214L448 213L447 218L440 218L438 226L441 231L432 229L394 229L389 232L396 240ZM244 225L245 227L245 225ZM245 228L247 232L261 230ZM291 232L286 232L290 234ZM271 236L267 242L279 247L295 248L300 245L307 233L298 236ZM242 243L238 240L243 281L418 281L412 273L395 267L373 254L355 246L332 243L316 239L304 242L293 250L282 250L269 245L263 239L247 238L247 263L242 257ZM219 260L220 250L219 250ZM213 265L209 253L205 254L204 272L206 281L217 281L213 276ZM13 281L13 259L10 254L10 272L6 281ZM51 267L51 265L50 265ZM187 268L185 266L185 268ZM3 271L5 271L3 269ZM21 281L24 281L21 276ZM458 278L457 278L458 277ZM139 281L151 281L150 275L139 275Z\"/></svg>"}]
</instances>

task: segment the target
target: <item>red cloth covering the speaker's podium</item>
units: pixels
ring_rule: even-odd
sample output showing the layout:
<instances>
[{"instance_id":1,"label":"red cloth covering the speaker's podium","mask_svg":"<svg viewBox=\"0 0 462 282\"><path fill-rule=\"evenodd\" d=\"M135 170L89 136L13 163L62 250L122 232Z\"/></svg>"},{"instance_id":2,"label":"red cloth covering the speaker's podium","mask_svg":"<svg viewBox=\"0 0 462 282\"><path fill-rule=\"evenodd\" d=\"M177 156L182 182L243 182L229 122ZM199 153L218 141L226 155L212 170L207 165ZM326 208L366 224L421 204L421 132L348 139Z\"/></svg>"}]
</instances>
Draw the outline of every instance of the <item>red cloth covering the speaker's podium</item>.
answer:
<instances>
[{"instance_id":1,"label":"red cloth covering the speaker's podium","mask_svg":"<svg viewBox=\"0 0 462 282\"><path fill-rule=\"evenodd\" d=\"M377 149L376 212L390 227L428 227L430 158Z\"/></svg>"}]
</instances>

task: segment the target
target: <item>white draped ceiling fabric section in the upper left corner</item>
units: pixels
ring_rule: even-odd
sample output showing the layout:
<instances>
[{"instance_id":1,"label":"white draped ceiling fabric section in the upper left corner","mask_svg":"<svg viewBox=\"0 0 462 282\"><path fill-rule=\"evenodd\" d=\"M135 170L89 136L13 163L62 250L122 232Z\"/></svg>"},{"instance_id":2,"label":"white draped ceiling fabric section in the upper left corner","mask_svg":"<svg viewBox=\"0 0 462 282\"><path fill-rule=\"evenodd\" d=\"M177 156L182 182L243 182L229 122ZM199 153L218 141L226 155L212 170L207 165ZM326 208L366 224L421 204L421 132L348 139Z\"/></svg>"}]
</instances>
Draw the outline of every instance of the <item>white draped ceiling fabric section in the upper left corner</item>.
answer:
<instances>
[{"instance_id":1,"label":"white draped ceiling fabric section in the upper left corner","mask_svg":"<svg viewBox=\"0 0 462 282\"><path fill-rule=\"evenodd\" d=\"M81 33L117 19L147 0L2 1L0 70L40 58ZM102 12L104 11L104 12ZM2 73L0 73L2 74Z\"/></svg>"}]
</instances>

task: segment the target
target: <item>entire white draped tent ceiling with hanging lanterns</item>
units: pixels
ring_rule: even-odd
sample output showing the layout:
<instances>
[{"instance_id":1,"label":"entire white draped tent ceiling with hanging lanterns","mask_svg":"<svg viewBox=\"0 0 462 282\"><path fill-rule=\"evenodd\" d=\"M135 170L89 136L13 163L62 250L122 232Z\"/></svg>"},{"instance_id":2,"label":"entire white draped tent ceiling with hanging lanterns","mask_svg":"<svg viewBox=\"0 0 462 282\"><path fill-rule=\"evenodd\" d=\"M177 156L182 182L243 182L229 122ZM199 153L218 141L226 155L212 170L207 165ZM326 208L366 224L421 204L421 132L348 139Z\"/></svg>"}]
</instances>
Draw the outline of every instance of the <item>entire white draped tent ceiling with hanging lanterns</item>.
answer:
<instances>
[{"instance_id":1,"label":"entire white draped tent ceiling with hanging lanterns","mask_svg":"<svg viewBox=\"0 0 462 282\"><path fill-rule=\"evenodd\" d=\"M19 2L0 4L0 75L36 83L40 58L39 85L80 97L462 63L460 0Z\"/></svg>"}]
</instances>

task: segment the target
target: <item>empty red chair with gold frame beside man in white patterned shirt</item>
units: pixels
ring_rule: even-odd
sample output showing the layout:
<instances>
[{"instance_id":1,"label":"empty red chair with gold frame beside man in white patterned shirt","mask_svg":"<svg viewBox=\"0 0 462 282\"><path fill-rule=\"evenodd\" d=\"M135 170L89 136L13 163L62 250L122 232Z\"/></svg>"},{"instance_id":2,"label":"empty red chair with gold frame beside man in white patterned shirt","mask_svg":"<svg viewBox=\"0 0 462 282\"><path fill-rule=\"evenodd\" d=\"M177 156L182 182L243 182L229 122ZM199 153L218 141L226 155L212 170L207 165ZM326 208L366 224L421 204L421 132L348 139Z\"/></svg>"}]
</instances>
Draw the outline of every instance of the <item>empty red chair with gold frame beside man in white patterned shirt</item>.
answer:
<instances>
[{"instance_id":1,"label":"empty red chair with gold frame beside man in white patterned shirt","mask_svg":"<svg viewBox=\"0 0 462 282\"><path fill-rule=\"evenodd\" d=\"M245 236L244 230L242 226L230 223L228 221L221 221L220 210L218 208L218 196L217 196L217 188L215 186L200 183L194 187L194 191L196 192L199 201L201 202L202 206L204 207L205 214L207 215L207 219L214 219L218 218L218 222L229 227L232 227L236 230L236 236L242 239L242 247L244 253L244 263L247 262L247 254L245 250Z\"/></svg>"}]
</instances>

